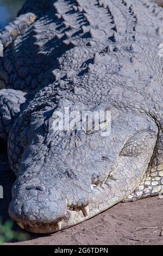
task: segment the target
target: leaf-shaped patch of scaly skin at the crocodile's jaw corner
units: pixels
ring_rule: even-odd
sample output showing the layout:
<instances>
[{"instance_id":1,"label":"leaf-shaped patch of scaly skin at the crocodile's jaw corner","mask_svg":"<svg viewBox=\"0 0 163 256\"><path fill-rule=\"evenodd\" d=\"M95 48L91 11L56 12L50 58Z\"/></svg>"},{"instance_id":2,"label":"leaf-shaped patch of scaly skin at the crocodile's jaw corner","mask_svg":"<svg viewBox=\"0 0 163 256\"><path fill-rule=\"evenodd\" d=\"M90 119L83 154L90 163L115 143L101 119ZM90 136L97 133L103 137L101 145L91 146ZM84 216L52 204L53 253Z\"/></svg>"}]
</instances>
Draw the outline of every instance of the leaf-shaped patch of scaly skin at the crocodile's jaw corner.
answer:
<instances>
[{"instance_id":1,"label":"leaf-shaped patch of scaly skin at the crocodile's jaw corner","mask_svg":"<svg viewBox=\"0 0 163 256\"><path fill-rule=\"evenodd\" d=\"M136 133L128 139L123 149L121 150L120 156L139 156L147 148L148 142L154 137L152 132L141 132Z\"/></svg>"}]
</instances>

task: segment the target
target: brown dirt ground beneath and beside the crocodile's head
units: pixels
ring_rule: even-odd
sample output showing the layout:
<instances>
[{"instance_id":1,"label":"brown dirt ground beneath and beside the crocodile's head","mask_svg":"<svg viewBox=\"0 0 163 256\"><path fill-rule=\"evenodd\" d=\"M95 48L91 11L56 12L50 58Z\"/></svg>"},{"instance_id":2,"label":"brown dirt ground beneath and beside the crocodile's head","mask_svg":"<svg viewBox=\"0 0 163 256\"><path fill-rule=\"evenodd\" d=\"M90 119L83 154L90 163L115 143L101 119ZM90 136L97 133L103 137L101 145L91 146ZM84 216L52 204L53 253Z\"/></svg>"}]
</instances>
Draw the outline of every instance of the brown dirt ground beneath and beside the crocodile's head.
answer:
<instances>
[{"instance_id":1,"label":"brown dirt ground beneath and beside the crocodile's head","mask_svg":"<svg viewBox=\"0 0 163 256\"><path fill-rule=\"evenodd\" d=\"M0 149L0 217L8 220L11 186L14 182L6 154ZM22 231L15 225L15 229ZM5 245L163 245L163 199L120 203L89 221L51 235L30 234L30 240ZM163 233L163 231L162 231Z\"/></svg>"}]
</instances>

